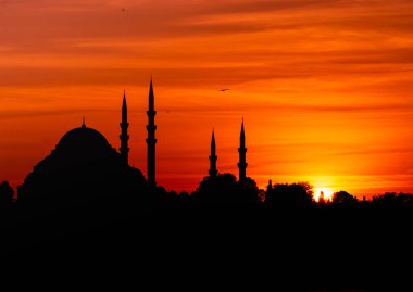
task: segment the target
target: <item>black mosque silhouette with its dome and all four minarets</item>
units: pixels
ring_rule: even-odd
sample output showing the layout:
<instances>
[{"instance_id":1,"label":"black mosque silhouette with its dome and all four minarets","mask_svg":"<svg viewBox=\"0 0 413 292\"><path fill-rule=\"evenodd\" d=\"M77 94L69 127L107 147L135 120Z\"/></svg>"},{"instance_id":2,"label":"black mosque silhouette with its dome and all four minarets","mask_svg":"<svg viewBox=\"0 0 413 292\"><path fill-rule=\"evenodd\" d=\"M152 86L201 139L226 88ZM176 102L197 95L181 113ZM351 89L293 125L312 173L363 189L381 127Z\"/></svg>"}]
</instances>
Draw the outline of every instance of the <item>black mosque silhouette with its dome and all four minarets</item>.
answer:
<instances>
[{"instance_id":1,"label":"black mosque silhouette with its dome and all four minarets","mask_svg":"<svg viewBox=\"0 0 413 292\"><path fill-rule=\"evenodd\" d=\"M155 130L154 93L152 77L149 87L148 138L146 139L147 179L142 173L128 164L128 112L126 93L123 96L121 147L112 148L104 136L86 126L85 118L78 128L66 132L51 153L40 161L17 187L17 200L34 203L39 199L61 201L62 199L85 200L104 194L147 192L157 187L155 180ZM243 119L240 131L239 181L246 181L246 136ZM210 178L218 175L216 168L216 144L214 132L211 141Z\"/></svg>"}]
</instances>

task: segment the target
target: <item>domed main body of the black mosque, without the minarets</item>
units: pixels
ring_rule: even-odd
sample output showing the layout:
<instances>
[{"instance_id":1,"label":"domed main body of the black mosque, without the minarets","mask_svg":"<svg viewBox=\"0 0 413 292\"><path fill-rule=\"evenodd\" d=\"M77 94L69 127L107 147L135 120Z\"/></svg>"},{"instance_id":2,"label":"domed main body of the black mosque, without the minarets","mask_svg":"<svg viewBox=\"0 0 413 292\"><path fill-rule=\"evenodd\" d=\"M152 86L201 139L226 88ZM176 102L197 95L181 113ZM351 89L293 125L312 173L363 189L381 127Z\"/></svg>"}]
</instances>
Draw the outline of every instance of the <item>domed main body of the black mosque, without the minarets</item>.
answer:
<instances>
[{"instance_id":1,"label":"domed main body of the black mosque, without the minarets","mask_svg":"<svg viewBox=\"0 0 413 292\"><path fill-rule=\"evenodd\" d=\"M66 132L17 187L18 202L87 202L146 188L139 169L125 163L98 130L82 124Z\"/></svg>"}]
</instances>

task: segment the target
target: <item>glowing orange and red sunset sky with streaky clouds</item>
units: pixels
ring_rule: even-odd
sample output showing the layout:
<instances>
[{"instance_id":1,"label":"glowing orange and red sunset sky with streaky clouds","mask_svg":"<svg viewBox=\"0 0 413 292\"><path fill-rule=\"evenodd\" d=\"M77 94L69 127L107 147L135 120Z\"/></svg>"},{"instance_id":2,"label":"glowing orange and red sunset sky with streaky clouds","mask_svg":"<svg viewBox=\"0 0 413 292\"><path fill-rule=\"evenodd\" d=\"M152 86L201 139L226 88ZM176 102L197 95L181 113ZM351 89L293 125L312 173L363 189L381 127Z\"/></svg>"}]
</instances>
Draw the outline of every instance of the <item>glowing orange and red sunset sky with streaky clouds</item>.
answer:
<instances>
[{"instance_id":1,"label":"glowing orange and red sunset sky with streaky clouds","mask_svg":"<svg viewBox=\"0 0 413 292\"><path fill-rule=\"evenodd\" d=\"M0 180L13 186L84 115L118 148L124 89L145 173L153 74L167 189L208 174L213 127L218 170L238 174L243 116L260 187L413 192L410 0L0 0Z\"/></svg>"}]
</instances>

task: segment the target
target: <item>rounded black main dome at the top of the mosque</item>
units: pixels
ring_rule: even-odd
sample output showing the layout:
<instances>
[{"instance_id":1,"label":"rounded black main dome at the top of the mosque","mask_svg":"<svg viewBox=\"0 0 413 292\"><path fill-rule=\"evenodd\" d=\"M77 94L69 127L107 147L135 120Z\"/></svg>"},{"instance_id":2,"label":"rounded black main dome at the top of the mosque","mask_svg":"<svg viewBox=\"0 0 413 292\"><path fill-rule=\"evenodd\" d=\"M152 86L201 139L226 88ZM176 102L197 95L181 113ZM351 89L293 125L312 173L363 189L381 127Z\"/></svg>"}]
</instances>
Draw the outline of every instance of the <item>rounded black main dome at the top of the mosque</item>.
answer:
<instances>
[{"instance_id":1,"label":"rounded black main dome at the top of the mosque","mask_svg":"<svg viewBox=\"0 0 413 292\"><path fill-rule=\"evenodd\" d=\"M111 148L108 140L99 131L83 125L66 132L57 145L58 151L86 151L100 152Z\"/></svg>"}]
</instances>

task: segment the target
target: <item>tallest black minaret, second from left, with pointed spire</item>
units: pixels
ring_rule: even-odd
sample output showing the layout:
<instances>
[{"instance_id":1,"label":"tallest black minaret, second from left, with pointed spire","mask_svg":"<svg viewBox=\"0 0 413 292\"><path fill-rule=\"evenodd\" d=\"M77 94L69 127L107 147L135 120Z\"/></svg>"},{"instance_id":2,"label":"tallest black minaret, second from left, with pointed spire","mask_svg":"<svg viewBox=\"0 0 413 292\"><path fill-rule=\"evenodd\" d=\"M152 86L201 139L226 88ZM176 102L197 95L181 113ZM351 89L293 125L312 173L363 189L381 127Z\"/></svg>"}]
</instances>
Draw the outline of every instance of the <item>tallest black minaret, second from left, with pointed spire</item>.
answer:
<instances>
[{"instance_id":1,"label":"tallest black minaret, second from left, with pointed spire","mask_svg":"<svg viewBox=\"0 0 413 292\"><path fill-rule=\"evenodd\" d=\"M157 112L154 111L154 96L153 96L153 86L152 86L152 77L151 77L151 84L149 87L149 109L147 111L148 115L148 183L150 187L155 187L155 130L157 126L154 124L154 116Z\"/></svg>"}]
</instances>

